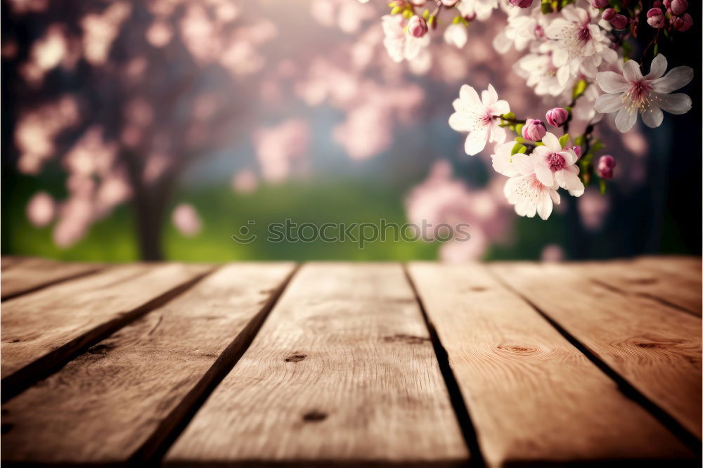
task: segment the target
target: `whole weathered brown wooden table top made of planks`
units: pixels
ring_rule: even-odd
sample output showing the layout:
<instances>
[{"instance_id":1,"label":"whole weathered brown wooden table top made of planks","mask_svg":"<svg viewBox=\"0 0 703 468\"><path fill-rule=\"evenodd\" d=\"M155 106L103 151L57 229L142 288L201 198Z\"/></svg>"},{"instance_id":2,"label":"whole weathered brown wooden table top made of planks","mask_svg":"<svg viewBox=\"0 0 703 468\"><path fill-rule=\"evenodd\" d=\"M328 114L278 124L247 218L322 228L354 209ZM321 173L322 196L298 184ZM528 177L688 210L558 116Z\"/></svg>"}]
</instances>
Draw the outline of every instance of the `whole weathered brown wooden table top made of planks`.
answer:
<instances>
[{"instance_id":1,"label":"whole weathered brown wooden table top made of planks","mask_svg":"<svg viewBox=\"0 0 703 468\"><path fill-rule=\"evenodd\" d=\"M2 461L700 466L701 271L4 257Z\"/></svg>"}]
</instances>

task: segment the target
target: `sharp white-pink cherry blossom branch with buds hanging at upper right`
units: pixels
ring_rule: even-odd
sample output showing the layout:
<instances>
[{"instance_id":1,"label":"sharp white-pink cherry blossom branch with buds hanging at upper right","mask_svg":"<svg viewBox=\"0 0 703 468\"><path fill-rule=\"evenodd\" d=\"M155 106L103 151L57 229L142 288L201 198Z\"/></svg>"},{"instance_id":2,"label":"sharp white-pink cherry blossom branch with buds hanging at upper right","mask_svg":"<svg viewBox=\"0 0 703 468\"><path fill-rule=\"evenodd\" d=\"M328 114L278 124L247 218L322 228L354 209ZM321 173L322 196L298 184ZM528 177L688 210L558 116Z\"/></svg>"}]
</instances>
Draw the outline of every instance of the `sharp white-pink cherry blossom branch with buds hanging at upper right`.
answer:
<instances>
[{"instance_id":1,"label":"sharp white-pink cherry blossom branch with buds hanging at upper right","mask_svg":"<svg viewBox=\"0 0 703 468\"><path fill-rule=\"evenodd\" d=\"M393 0L389 8L381 18L383 44L394 62L411 64L430 63L437 30L446 44L463 48L472 22L498 11L507 15L494 48L522 53L515 74L556 106L544 116L518 119L491 84L480 95L465 84L449 126L467 133L467 155L491 154L494 169L508 177L504 194L520 216L547 219L560 188L579 197L597 181L605 192L616 159L597 156L604 149L595 136L603 115L612 114L625 133L638 116L656 128L662 111L683 114L692 105L689 96L673 92L691 82L692 68L667 72L659 53L660 44L693 25L686 0ZM642 37L652 39L638 41ZM637 48L640 60L633 56ZM576 121L583 131L572 138L569 126Z\"/></svg>"}]
</instances>

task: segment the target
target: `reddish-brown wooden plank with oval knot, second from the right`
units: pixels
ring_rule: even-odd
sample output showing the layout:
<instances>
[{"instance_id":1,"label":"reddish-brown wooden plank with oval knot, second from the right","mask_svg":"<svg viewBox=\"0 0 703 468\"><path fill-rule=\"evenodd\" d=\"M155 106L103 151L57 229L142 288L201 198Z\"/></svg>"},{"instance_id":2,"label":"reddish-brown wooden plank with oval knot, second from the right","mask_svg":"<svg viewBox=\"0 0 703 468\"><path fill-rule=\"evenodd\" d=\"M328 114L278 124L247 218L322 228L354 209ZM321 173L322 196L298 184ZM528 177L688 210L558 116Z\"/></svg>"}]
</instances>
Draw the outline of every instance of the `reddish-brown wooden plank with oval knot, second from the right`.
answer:
<instances>
[{"instance_id":1,"label":"reddish-brown wooden plank with oval knot, second from the right","mask_svg":"<svg viewBox=\"0 0 703 468\"><path fill-rule=\"evenodd\" d=\"M598 285L568 265L490 268L626 382L701 437L700 318Z\"/></svg>"}]
</instances>

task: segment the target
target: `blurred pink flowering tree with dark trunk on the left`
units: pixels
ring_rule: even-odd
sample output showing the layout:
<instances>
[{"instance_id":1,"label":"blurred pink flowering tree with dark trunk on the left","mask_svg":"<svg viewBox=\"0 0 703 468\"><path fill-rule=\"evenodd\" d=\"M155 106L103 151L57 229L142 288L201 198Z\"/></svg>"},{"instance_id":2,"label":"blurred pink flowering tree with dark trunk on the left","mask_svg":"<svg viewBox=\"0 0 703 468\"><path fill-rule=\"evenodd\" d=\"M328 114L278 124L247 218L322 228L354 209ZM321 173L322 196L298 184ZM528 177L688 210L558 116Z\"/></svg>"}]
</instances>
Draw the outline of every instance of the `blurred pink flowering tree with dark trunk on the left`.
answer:
<instances>
[{"instance_id":1,"label":"blurred pink flowering tree with dark trunk on the left","mask_svg":"<svg viewBox=\"0 0 703 468\"><path fill-rule=\"evenodd\" d=\"M142 258L162 258L174 188L245 129L247 77L276 27L229 0L11 0L2 23L4 157L25 174L67 173L67 199L38 193L30 220L56 219L67 246L131 200ZM186 233L192 211L174 212Z\"/></svg>"}]
</instances>

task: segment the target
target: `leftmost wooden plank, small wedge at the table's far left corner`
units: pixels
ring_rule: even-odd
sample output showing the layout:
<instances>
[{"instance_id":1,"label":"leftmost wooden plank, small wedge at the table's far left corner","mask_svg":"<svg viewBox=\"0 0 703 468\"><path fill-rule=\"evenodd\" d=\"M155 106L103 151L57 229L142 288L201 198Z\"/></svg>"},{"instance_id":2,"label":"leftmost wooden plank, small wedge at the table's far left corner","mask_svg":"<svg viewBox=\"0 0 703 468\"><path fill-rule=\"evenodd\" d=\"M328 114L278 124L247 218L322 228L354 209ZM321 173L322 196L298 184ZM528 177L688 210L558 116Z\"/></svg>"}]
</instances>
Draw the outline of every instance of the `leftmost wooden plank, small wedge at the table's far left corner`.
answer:
<instances>
[{"instance_id":1,"label":"leftmost wooden plank, small wedge at the table's far left corner","mask_svg":"<svg viewBox=\"0 0 703 468\"><path fill-rule=\"evenodd\" d=\"M11 299L105 268L101 264L62 263L48 259L22 259L3 266L1 299Z\"/></svg>"}]
</instances>

